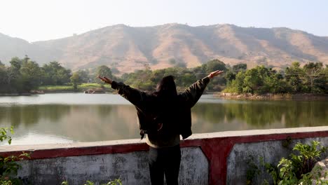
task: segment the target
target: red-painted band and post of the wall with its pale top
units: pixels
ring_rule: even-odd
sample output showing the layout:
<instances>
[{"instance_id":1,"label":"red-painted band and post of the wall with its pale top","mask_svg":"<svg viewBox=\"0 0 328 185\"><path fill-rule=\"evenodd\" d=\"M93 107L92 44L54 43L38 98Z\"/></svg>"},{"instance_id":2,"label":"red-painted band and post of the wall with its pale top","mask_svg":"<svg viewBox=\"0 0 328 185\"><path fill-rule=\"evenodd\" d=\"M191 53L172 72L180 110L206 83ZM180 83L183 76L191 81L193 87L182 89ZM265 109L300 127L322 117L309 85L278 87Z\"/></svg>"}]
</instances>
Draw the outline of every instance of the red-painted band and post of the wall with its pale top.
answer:
<instances>
[{"instance_id":1,"label":"red-painted band and post of the wall with its pale top","mask_svg":"<svg viewBox=\"0 0 328 185\"><path fill-rule=\"evenodd\" d=\"M194 184L192 179L194 176L196 177L196 174L191 174L189 171L187 173L184 173L186 172L186 169L188 169L188 167L191 166L193 166L192 169L196 171L198 169L204 169L204 168L208 169L208 171L205 173L202 170L197 171L203 176L205 174L208 174L207 175L208 178L207 177L205 179L199 178L197 180L197 183L195 184L203 184L200 183L201 181L208 181L208 184L233 184L232 182L240 182L241 180L233 179L234 176L231 176L231 173L233 172L227 170L227 169L233 169L234 167L233 164L235 165L238 164L235 163L235 161L237 160L236 158L238 158L237 157L238 152L240 153L241 151L245 151L245 153L247 153L248 151L250 151L249 153L257 154L257 152L258 153L261 152L261 150L257 150L257 146L261 146L264 149L269 149L270 147L268 146L271 146L272 144L275 146L275 148L273 148L274 150L271 151L271 153L277 153L280 147L282 147L280 142L287 138L298 139L300 142L306 141L308 138L327 141L328 126L313 127L313 128L245 130L245 131L233 131L233 132L229 131L229 132L214 132L214 133L206 133L206 134L194 134L191 137L189 137L189 139L186 139L181 142L182 153L184 154L182 156L182 166L180 168L181 169L180 178L182 179L182 181L180 181L180 184L184 184L184 181L186 181L184 179L190 179L190 178L191 181L189 181L189 184ZM272 142L272 143L265 144L268 142ZM328 144L327 142L324 142L325 146L327 146L327 144ZM59 160L58 158L71 158L73 156L76 156L78 158L78 156L81 156L81 158L84 158L83 161L85 161L85 160L91 160L91 158L93 158L94 156L102 156L100 158L107 158L108 155L113 156L116 155L116 153L118 154L121 153L122 155L126 154L126 156L129 158L130 155L129 153L135 153L133 155L142 158L141 159L142 164L147 164L147 159L144 157L144 154L140 154L140 153L146 153L148 149L149 146L147 146L144 143L144 141L141 141L140 139L129 139L129 140L119 140L119 141L109 141L109 142L42 144L42 145L29 145L29 146L1 146L0 156L17 155L22 151L32 151L31 160L26 160L26 161L44 161L45 163L48 160L52 160L51 158L54 158L54 160L57 161ZM188 151L188 152L184 152L184 151ZM202 152L199 153L199 151ZM193 155L189 155L189 157L187 157L188 156L186 155L187 153L195 153L197 158L192 159L191 156ZM207 159L207 163L205 163L206 161L204 160L198 160L198 158L202 158L201 157L202 155ZM245 156L246 155L243 155L240 158L245 159ZM137 158L135 160L137 160ZM191 160L187 160L187 159L191 159ZM241 160L240 163L242 163L242 161L243 160ZM22 161L22 163L24 164L28 162ZM34 163L34 162L29 162L29 163ZM41 165L42 163L43 162L38 162L37 164ZM55 163L55 165L60 165L59 162L53 162L53 163ZM81 164L83 163L85 162L81 162ZM129 165L129 163L125 163L125 165ZM34 168L38 167L38 165L36 165L36 162L32 166ZM139 167L142 166L144 165L139 165ZM68 167L67 169L70 168ZM51 170L49 170L49 172L50 171ZM56 172L57 171L55 170L51 175L57 175ZM130 171L126 171L125 173L129 173L129 172ZM245 172L245 170L240 171L240 174L238 176L239 179L242 179L243 172ZM92 172L86 172L86 173L92 174ZM29 172L25 174L24 177L31 179L33 175L32 172ZM50 174L48 175L50 178L51 175ZM148 176L146 176L149 174L143 174L143 175L149 178ZM55 177L51 176L51 178L55 178ZM126 178L128 179L123 179L125 184L128 183L128 181L130 182L134 181L133 179L130 179L133 178L132 176ZM98 177L98 179L104 179L104 177ZM58 179L54 180L54 182L55 181L58 182ZM147 179L145 180L145 182L146 181ZM34 183L34 184L38 184L38 183Z\"/></svg>"}]
</instances>

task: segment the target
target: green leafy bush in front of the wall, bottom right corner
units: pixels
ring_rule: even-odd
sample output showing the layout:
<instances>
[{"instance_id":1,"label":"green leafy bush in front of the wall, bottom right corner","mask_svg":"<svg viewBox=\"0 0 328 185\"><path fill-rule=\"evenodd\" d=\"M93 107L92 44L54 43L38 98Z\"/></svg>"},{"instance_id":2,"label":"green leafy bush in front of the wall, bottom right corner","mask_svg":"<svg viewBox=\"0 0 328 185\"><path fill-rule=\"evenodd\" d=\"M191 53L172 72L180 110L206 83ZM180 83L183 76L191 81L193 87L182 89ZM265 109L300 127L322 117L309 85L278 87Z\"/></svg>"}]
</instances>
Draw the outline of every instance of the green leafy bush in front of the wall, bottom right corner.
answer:
<instances>
[{"instance_id":1,"label":"green leafy bush in front of the wall, bottom right corner","mask_svg":"<svg viewBox=\"0 0 328 185\"><path fill-rule=\"evenodd\" d=\"M266 172L271 175L273 184L289 185L289 184L327 184L328 181L320 179L322 167L314 165L319 160L320 156L327 151L327 147L322 146L320 142L312 141L311 144L297 143L288 158L281 158L278 165L264 163L260 157L260 166L266 169ZM251 158L252 159L252 158ZM254 160L247 163L248 169L246 174L247 184L252 184L254 177L260 174L259 167L255 165ZM311 172L312 170L312 172ZM328 177L328 172L324 173L324 178ZM269 184L268 179L264 180L263 184Z\"/></svg>"}]
</instances>

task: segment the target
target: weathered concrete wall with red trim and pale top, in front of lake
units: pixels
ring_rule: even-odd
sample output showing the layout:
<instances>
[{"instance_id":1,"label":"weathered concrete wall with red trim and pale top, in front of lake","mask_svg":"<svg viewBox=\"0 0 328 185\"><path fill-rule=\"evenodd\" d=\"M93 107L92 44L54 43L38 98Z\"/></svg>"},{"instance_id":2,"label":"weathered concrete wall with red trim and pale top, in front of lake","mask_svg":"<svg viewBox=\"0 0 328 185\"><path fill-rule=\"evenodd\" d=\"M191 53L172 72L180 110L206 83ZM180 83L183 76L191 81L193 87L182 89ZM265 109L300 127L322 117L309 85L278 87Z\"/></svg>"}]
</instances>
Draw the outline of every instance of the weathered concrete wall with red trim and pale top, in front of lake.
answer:
<instances>
[{"instance_id":1,"label":"weathered concrete wall with red trim and pale top, in front of lake","mask_svg":"<svg viewBox=\"0 0 328 185\"><path fill-rule=\"evenodd\" d=\"M294 138L283 146L287 137ZM303 139L300 139L303 138ZM246 184L247 160L278 164L296 142L317 140L328 146L328 126L275 130L245 130L192 135L182 142L179 184ZM0 156L32 151L22 160L18 176L26 184L106 183L120 178L123 184L150 184L148 146L139 139L74 144L1 146ZM209 160L211 158L211 160ZM261 169L263 172L264 169ZM261 174L254 184L268 175Z\"/></svg>"}]
</instances>

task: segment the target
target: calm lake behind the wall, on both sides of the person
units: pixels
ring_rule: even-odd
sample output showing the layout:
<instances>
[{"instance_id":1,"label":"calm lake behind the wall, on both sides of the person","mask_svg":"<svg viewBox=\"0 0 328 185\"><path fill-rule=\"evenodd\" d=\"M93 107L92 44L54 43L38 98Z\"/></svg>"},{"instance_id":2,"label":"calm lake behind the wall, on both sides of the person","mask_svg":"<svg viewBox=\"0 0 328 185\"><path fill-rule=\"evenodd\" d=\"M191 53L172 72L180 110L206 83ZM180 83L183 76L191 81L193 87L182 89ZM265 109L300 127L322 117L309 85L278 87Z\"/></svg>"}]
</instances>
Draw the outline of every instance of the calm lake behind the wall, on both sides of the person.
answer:
<instances>
[{"instance_id":1,"label":"calm lake behind the wall, on both sides of the person","mask_svg":"<svg viewBox=\"0 0 328 185\"><path fill-rule=\"evenodd\" d=\"M203 95L191 111L193 133L328 125L328 101L322 100L247 101ZM111 94L0 97L0 127L11 125L13 145L139 138L135 107Z\"/></svg>"}]
</instances>

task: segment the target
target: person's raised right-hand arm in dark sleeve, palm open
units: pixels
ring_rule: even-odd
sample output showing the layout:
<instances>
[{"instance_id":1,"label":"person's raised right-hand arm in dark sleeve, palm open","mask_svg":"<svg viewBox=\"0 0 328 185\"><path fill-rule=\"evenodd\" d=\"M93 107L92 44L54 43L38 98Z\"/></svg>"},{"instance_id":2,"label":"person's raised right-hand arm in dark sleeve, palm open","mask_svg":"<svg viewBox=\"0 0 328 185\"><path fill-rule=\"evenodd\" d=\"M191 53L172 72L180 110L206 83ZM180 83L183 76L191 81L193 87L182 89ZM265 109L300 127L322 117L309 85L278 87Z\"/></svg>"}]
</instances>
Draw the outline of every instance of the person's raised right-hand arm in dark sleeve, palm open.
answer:
<instances>
[{"instance_id":1,"label":"person's raised right-hand arm in dark sleeve, palm open","mask_svg":"<svg viewBox=\"0 0 328 185\"><path fill-rule=\"evenodd\" d=\"M188 102L190 107L193 107L199 100L200 96L203 95L203 92L207 86L207 84L210 82L210 79L214 78L215 76L218 76L219 74L222 74L224 71L212 71L209 75L207 75L205 78L200 79L189 86L189 88L186 88L184 90L184 93L182 93L182 97Z\"/></svg>"}]
</instances>

